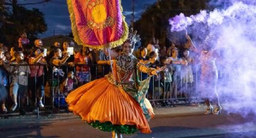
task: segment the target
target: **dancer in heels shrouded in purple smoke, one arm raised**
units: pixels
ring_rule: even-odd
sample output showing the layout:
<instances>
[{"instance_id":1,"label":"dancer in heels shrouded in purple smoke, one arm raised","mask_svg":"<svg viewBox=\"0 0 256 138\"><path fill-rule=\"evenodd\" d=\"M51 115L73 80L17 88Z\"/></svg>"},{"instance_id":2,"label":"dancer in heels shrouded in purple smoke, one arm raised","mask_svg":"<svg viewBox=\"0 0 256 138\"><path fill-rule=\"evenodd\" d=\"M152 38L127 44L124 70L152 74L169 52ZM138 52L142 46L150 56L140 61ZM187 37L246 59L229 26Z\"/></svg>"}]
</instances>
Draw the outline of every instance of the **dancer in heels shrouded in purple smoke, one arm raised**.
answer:
<instances>
[{"instance_id":1,"label":"dancer in heels shrouded in purple smoke, one arm raised","mask_svg":"<svg viewBox=\"0 0 256 138\"><path fill-rule=\"evenodd\" d=\"M192 40L190 39L189 35L187 37L187 43L192 46L192 50L195 52L199 52L198 49L195 49ZM201 64L201 96L205 100L205 104L207 105L207 109L205 110L205 115L219 115L222 107L220 106L219 102L219 95L217 93L217 80L218 80L218 71L216 67L216 58L218 54L213 47L210 46L211 40L208 36L204 41L202 46L201 55L199 58ZM216 101L216 108L213 110L213 106L211 106L211 101Z\"/></svg>"}]
</instances>

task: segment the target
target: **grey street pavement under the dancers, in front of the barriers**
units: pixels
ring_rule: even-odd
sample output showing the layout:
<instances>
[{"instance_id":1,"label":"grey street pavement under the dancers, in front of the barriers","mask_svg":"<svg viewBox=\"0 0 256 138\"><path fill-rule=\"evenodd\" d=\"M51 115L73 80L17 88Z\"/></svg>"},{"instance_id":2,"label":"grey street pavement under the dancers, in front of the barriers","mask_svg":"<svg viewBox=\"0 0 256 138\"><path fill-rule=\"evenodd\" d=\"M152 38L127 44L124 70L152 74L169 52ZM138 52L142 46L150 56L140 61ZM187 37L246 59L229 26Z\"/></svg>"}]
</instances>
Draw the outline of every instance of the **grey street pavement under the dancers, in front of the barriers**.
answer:
<instances>
[{"instance_id":1,"label":"grey street pavement under the dancers, in front of the barriers","mask_svg":"<svg viewBox=\"0 0 256 138\"><path fill-rule=\"evenodd\" d=\"M136 133L123 137L256 137L255 115L227 113L204 115L205 106L161 107L149 122L151 134ZM0 119L0 137L111 137L72 113L11 115Z\"/></svg>"}]
</instances>

